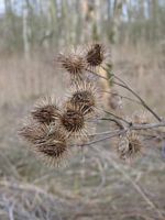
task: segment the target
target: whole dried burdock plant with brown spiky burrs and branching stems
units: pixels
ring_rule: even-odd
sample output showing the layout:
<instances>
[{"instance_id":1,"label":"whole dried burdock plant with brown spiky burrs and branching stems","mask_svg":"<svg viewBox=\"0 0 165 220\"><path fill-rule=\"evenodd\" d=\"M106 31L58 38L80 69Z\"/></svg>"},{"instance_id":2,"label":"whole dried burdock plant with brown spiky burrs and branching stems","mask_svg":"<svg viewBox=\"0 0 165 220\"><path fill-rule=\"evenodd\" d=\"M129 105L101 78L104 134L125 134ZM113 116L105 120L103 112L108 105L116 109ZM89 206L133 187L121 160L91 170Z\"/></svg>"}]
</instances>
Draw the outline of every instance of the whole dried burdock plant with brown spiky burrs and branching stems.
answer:
<instances>
[{"instance_id":1,"label":"whole dried burdock plant with brown spiky burrs and branching stems","mask_svg":"<svg viewBox=\"0 0 165 220\"><path fill-rule=\"evenodd\" d=\"M123 79L112 73L112 69L109 70L107 58L106 46L100 43L82 48L81 53L76 53L75 50L57 56L57 64L69 74L72 79L66 98L59 105L52 97L38 101L31 110L28 122L19 131L36 155L48 164L63 163L74 146L90 146L113 138L117 139L114 147L119 157L132 161L141 155L145 147L145 136L150 135L150 131L156 131L156 133L152 132L153 139L157 135L161 140L165 138L160 129L165 127L163 118L150 108ZM107 76L99 73L100 68L106 72ZM97 77L90 77L91 74ZM99 86L100 78L112 81L109 85L127 89L134 96L134 99L124 97L118 91L116 96L112 96L111 88L108 91L102 90ZM109 102L114 102L116 97L120 102L127 99L132 103L141 105L157 122L150 123L145 119L146 114L135 113L130 118L125 117L124 112L118 114L114 108L105 110L102 103L106 100L103 100L102 92L109 94L108 99L112 99ZM109 131L94 134L91 131L96 129L98 121L108 121Z\"/></svg>"}]
</instances>

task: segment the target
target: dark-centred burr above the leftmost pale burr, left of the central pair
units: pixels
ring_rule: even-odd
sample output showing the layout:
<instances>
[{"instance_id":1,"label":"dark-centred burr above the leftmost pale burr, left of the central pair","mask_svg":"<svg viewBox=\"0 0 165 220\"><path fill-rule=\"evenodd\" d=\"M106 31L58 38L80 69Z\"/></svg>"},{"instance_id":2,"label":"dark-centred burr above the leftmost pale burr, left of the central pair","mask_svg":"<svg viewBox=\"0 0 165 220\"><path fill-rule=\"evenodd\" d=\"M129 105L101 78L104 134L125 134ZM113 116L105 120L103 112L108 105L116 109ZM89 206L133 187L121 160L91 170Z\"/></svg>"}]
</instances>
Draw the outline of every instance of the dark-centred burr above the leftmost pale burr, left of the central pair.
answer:
<instances>
[{"instance_id":1,"label":"dark-centred burr above the leftmost pale burr, left of the central pair","mask_svg":"<svg viewBox=\"0 0 165 220\"><path fill-rule=\"evenodd\" d=\"M59 118L61 111L50 97L40 101L31 111L31 114L37 122L50 124Z\"/></svg>"}]
</instances>

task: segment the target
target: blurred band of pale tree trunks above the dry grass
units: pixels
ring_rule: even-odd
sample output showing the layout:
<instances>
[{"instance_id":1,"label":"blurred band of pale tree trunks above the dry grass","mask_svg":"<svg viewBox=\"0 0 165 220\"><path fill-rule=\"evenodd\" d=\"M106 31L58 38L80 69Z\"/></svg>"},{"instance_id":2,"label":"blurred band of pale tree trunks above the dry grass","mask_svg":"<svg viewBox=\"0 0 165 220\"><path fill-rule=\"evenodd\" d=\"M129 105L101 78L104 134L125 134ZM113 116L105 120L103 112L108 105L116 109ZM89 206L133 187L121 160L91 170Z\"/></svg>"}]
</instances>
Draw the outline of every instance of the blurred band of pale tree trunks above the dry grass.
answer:
<instances>
[{"instance_id":1,"label":"blurred band of pale tree trunks above the dry grass","mask_svg":"<svg viewBox=\"0 0 165 220\"><path fill-rule=\"evenodd\" d=\"M165 44L164 0L1 0L0 52L23 53L77 45Z\"/></svg>"}]
</instances>

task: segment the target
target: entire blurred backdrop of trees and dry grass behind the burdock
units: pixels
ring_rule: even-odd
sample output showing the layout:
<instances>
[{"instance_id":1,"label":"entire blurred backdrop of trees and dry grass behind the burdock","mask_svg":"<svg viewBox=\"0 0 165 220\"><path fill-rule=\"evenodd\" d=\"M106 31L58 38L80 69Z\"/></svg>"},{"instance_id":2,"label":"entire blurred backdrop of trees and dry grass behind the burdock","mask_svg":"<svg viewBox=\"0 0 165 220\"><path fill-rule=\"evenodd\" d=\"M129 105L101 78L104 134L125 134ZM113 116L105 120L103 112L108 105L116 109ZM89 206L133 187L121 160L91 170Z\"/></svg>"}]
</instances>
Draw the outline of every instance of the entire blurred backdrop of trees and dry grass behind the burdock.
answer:
<instances>
[{"instance_id":1,"label":"entire blurred backdrop of trees and dry grass behind the burdock","mask_svg":"<svg viewBox=\"0 0 165 220\"><path fill-rule=\"evenodd\" d=\"M65 92L57 52L92 41L110 48L117 75L165 116L165 0L0 0L0 220L165 219L162 143L148 142L130 166L108 141L56 169L18 139L37 98ZM138 108L124 105L129 114Z\"/></svg>"}]
</instances>

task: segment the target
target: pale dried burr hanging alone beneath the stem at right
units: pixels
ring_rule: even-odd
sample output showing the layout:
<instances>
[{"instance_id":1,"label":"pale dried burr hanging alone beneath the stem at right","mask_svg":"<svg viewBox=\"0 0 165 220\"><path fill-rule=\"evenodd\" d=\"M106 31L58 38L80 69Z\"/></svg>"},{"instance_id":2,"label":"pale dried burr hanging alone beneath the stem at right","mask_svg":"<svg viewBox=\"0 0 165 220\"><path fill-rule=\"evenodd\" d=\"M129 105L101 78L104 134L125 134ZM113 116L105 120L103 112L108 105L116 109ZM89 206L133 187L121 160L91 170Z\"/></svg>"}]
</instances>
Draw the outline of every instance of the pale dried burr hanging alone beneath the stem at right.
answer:
<instances>
[{"instance_id":1,"label":"pale dried burr hanging alone beneath the stem at right","mask_svg":"<svg viewBox=\"0 0 165 220\"><path fill-rule=\"evenodd\" d=\"M118 154L120 158L130 162L141 154L142 147L140 138L134 132L130 132L128 135L120 138Z\"/></svg>"}]
</instances>

